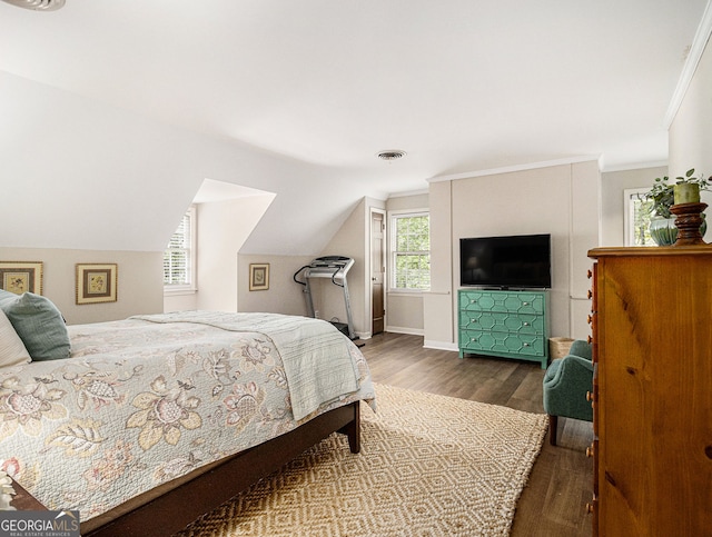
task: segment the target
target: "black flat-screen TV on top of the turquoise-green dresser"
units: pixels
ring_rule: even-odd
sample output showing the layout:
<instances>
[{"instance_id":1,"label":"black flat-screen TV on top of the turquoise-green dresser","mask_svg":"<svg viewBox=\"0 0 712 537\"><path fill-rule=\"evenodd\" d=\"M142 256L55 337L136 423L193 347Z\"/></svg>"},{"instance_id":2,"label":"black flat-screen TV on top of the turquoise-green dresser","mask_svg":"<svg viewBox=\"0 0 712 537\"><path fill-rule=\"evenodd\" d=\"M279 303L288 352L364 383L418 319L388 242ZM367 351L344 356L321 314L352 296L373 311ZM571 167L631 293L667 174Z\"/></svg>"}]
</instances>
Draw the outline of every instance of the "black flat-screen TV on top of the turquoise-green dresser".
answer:
<instances>
[{"instance_id":1,"label":"black flat-screen TV on top of the turquoise-green dresser","mask_svg":"<svg viewBox=\"0 0 712 537\"><path fill-rule=\"evenodd\" d=\"M459 239L459 282L501 289L552 287L551 235Z\"/></svg>"}]
</instances>

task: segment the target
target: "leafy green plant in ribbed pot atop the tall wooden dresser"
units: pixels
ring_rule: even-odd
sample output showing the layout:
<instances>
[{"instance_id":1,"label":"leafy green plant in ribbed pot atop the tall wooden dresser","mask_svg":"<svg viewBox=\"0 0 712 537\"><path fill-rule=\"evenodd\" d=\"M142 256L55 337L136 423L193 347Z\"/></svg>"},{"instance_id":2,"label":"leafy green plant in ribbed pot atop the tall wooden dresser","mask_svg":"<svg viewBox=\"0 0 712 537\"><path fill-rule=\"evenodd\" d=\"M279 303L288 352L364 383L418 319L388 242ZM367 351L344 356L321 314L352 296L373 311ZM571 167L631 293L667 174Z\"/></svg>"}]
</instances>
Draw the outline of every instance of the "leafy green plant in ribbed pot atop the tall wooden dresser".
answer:
<instances>
[{"instance_id":1,"label":"leafy green plant in ribbed pot atop the tall wooden dresser","mask_svg":"<svg viewBox=\"0 0 712 537\"><path fill-rule=\"evenodd\" d=\"M684 177L676 177L674 185L669 180L668 176L655 178L653 187L645 193L645 199L652 201L650 235L657 246L674 245L678 239L675 217L670 212L670 207L675 203L699 203L700 191L708 190L710 186L704 176L695 177L694 168L688 170ZM706 221L700 228L702 235L705 229Z\"/></svg>"}]
</instances>

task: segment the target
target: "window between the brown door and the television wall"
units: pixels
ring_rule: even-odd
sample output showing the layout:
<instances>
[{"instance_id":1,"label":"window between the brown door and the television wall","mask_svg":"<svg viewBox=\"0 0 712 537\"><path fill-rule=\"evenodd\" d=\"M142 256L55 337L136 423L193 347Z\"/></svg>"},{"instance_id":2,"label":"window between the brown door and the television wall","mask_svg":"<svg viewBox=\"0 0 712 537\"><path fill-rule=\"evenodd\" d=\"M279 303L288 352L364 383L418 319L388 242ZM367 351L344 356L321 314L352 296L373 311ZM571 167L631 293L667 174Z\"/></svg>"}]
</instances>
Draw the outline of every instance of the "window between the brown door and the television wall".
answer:
<instances>
[{"instance_id":1,"label":"window between the brown door and the television wall","mask_svg":"<svg viewBox=\"0 0 712 537\"><path fill-rule=\"evenodd\" d=\"M431 219L427 211L390 215L390 288L431 288Z\"/></svg>"}]
</instances>

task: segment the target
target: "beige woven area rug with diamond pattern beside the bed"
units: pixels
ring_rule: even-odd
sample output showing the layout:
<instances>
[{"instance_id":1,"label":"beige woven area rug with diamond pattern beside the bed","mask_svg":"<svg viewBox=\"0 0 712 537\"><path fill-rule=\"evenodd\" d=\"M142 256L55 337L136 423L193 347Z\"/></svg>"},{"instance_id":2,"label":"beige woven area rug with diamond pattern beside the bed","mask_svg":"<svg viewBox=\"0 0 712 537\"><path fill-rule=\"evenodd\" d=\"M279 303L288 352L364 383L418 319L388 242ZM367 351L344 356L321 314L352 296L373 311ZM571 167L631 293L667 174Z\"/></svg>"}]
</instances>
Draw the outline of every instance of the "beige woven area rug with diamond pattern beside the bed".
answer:
<instances>
[{"instance_id":1,"label":"beige woven area rug with diamond pattern beside the bed","mask_svg":"<svg viewBox=\"0 0 712 537\"><path fill-rule=\"evenodd\" d=\"M504 536L546 417L377 385L362 453L334 434L181 537Z\"/></svg>"}]
</instances>

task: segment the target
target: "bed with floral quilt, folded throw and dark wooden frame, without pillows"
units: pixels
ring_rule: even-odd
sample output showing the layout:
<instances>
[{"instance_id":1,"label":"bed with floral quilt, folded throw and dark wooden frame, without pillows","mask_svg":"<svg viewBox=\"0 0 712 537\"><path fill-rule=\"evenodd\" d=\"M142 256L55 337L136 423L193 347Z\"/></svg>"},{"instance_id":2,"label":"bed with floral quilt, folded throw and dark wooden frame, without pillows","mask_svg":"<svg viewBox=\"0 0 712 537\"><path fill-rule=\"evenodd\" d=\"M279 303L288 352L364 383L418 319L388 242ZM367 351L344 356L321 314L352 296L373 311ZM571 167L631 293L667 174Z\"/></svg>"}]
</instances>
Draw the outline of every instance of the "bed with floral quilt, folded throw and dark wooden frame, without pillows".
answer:
<instances>
[{"instance_id":1,"label":"bed with floral quilt, folded throw and dark wooden frame, without pillows","mask_svg":"<svg viewBox=\"0 0 712 537\"><path fill-rule=\"evenodd\" d=\"M67 334L68 359L0 369L0 457L85 536L171 535L334 431L358 453L360 401L375 409L363 355L318 319L189 311Z\"/></svg>"}]
</instances>

